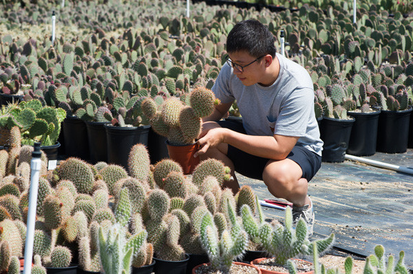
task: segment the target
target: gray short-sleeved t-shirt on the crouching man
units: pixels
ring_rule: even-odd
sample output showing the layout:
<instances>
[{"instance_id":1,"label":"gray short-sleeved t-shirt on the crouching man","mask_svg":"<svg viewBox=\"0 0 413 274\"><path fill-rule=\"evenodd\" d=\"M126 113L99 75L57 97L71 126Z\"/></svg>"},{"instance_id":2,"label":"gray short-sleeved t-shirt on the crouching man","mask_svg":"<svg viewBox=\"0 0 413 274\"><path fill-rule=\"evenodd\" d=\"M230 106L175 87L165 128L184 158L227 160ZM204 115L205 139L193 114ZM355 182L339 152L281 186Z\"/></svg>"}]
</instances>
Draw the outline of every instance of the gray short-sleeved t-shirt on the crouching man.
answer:
<instances>
[{"instance_id":1,"label":"gray short-sleeved t-shirt on the crouching man","mask_svg":"<svg viewBox=\"0 0 413 274\"><path fill-rule=\"evenodd\" d=\"M323 141L314 113L313 81L301 65L281 54L277 58L279 75L270 87L244 86L225 63L212 91L224 104L237 100L248 135L299 137L297 146L321 156Z\"/></svg>"}]
</instances>

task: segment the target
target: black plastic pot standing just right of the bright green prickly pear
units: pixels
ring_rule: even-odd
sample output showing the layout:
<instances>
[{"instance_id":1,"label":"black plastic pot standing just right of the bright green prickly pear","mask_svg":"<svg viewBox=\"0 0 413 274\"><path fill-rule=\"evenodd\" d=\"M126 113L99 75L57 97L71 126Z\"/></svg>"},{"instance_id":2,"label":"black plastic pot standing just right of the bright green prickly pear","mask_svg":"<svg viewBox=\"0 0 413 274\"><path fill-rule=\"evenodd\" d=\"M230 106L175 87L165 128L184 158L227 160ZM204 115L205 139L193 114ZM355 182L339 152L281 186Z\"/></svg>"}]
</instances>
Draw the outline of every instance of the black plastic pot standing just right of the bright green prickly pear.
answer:
<instances>
[{"instance_id":1,"label":"black plastic pot standing just right of the bright green prickly pear","mask_svg":"<svg viewBox=\"0 0 413 274\"><path fill-rule=\"evenodd\" d=\"M78 157L89 160L89 144L87 144L86 124L76 116L67 116L63 120L65 153L67 157Z\"/></svg>"}]
</instances>

